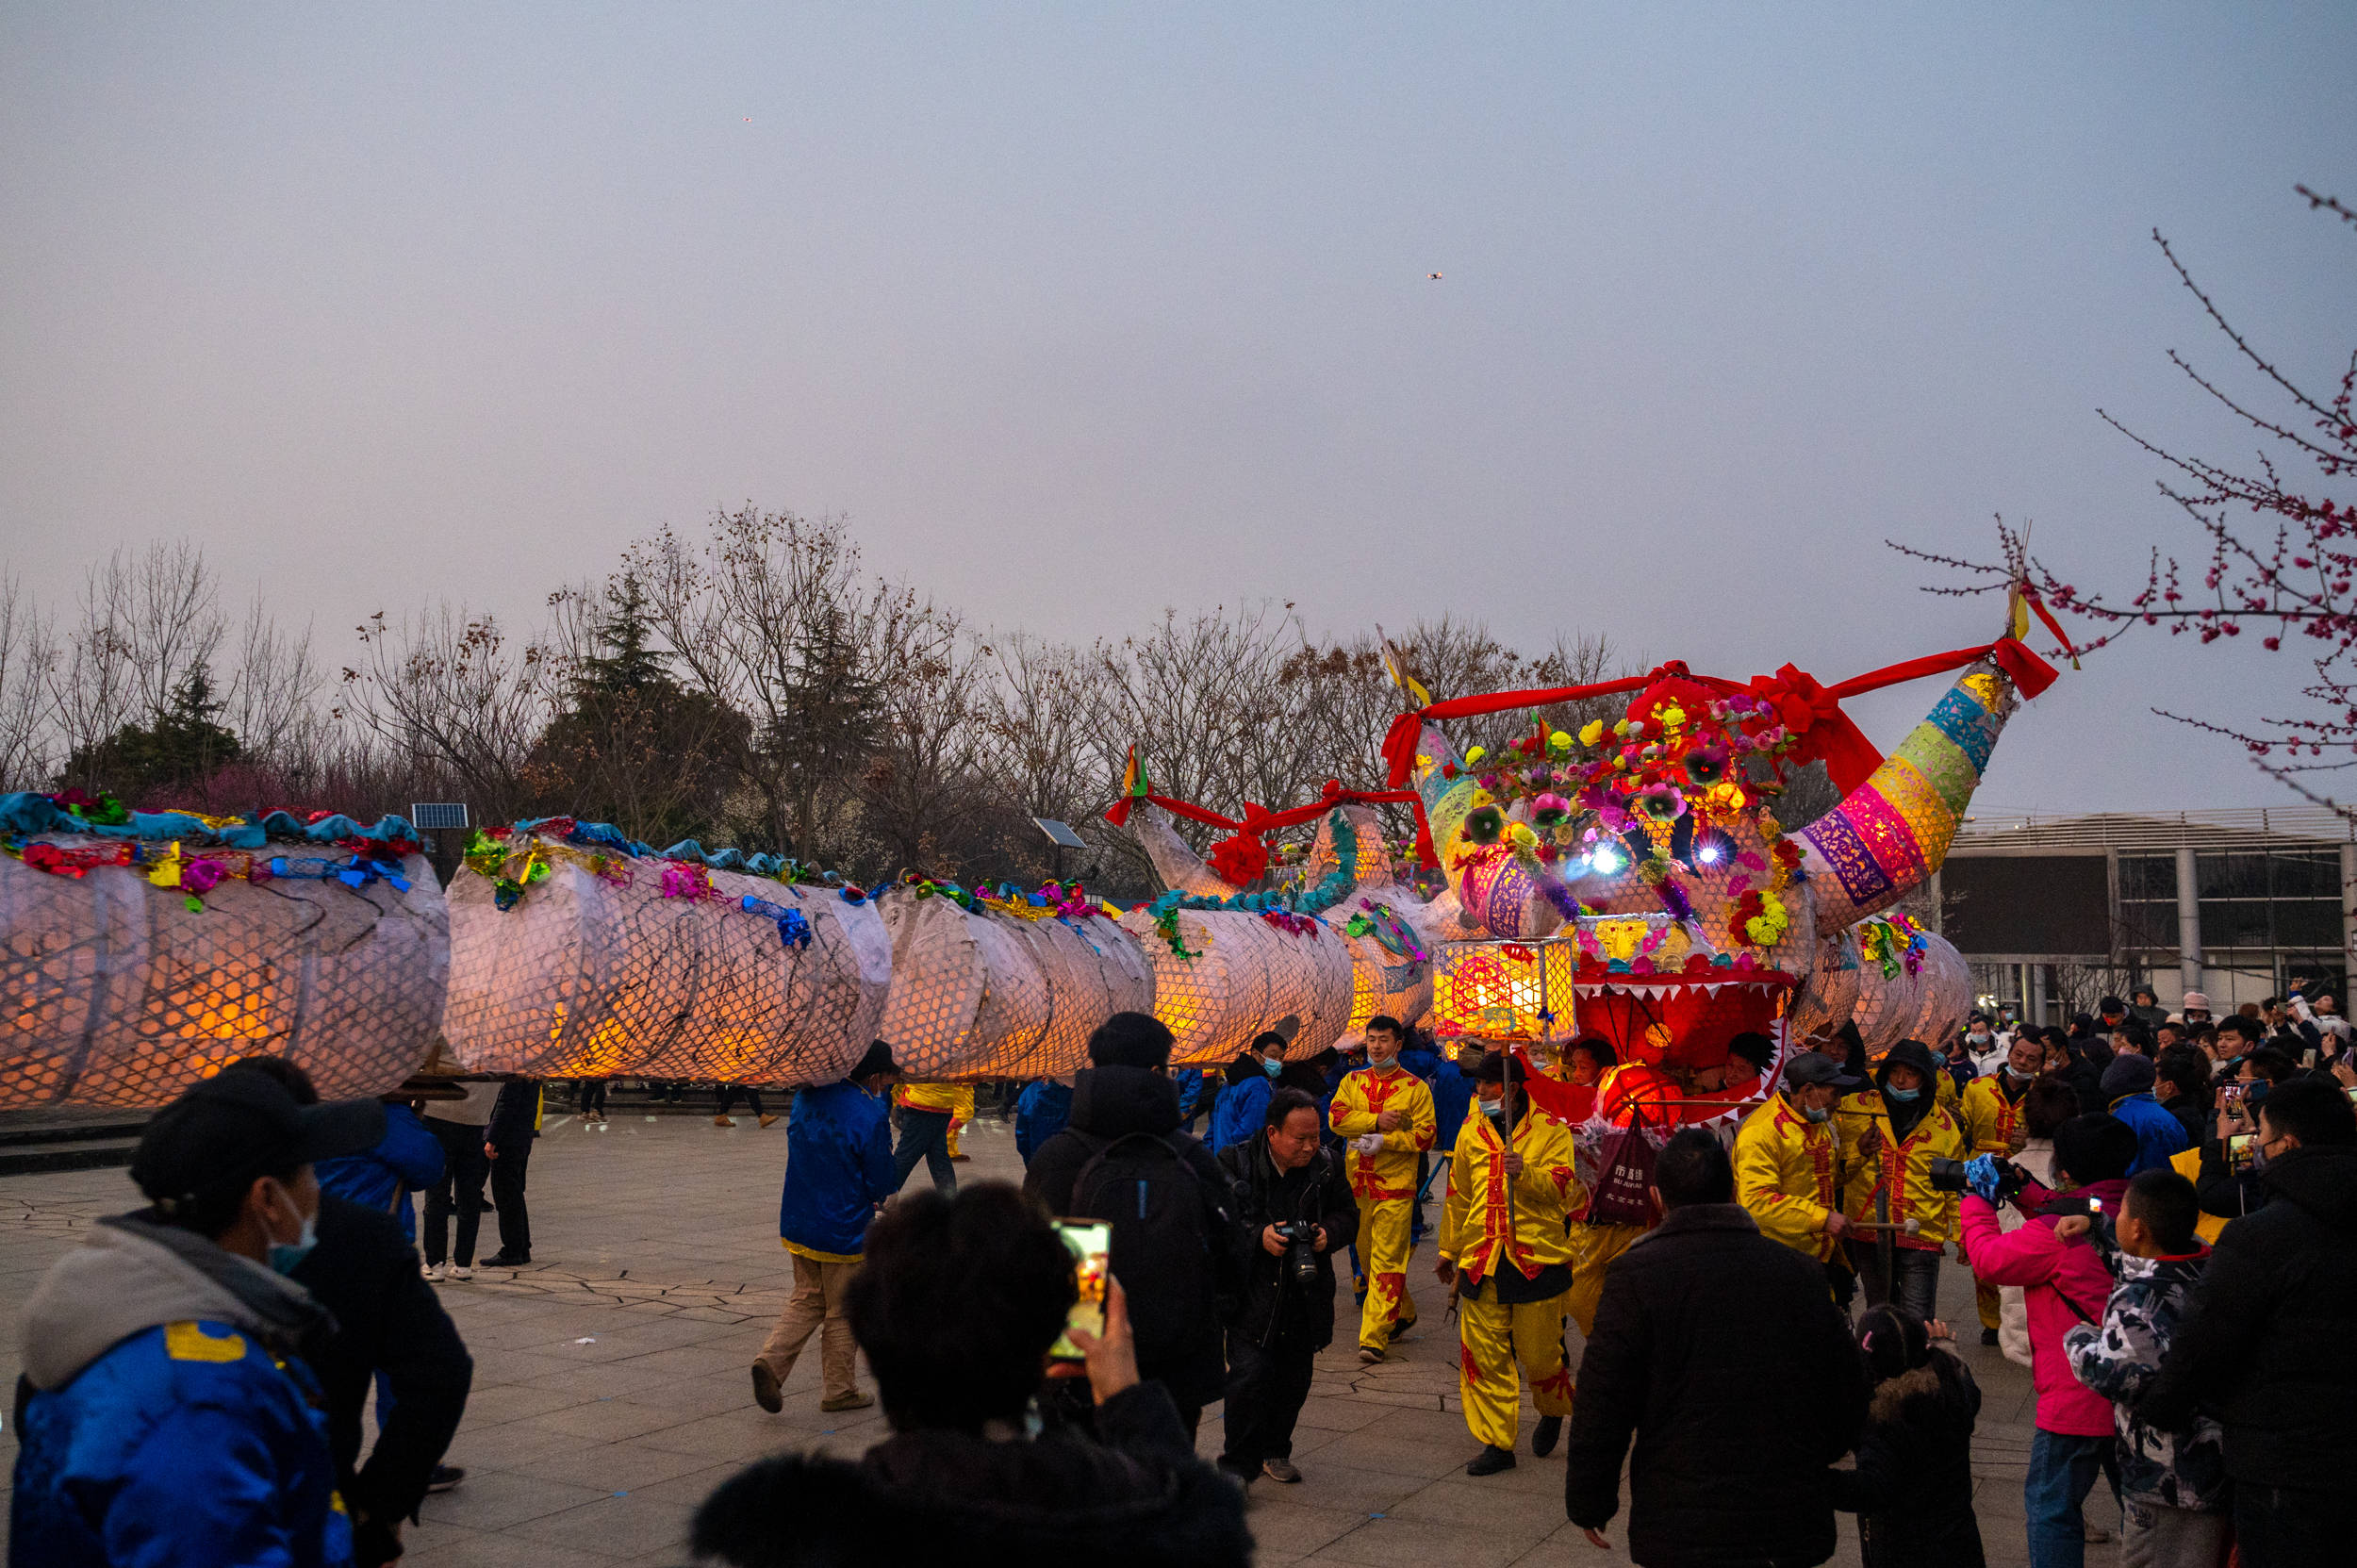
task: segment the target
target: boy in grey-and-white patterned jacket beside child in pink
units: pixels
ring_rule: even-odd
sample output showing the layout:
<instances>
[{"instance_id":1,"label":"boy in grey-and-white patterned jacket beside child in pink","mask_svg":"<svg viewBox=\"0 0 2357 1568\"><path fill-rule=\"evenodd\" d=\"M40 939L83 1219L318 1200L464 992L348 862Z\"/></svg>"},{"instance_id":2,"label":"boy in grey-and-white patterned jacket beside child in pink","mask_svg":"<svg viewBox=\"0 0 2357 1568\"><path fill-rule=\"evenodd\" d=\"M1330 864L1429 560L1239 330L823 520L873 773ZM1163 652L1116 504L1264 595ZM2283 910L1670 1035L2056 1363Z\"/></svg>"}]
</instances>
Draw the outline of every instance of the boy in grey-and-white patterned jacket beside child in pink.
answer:
<instances>
[{"instance_id":1,"label":"boy in grey-and-white patterned jacket beside child in pink","mask_svg":"<svg viewBox=\"0 0 2357 1568\"><path fill-rule=\"evenodd\" d=\"M2067 1233L2093 1228L2119 1280L2102 1325L2065 1330L2062 1349L2072 1375L2112 1401L2117 1412L2126 1521L2119 1551L2128 1568L2225 1559L2225 1431L2209 1417L2197 1417L2190 1431L2157 1431L2133 1415L2135 1396L2161 1370L2168 1339L2209 1264L2209 1247L2194 1236L2197 1217L2194 1184L2164 1165L2128 1184L2117 1236L2105 1236L2088 1217L2055 1226Z\"/></svg>"}]
</instances>

